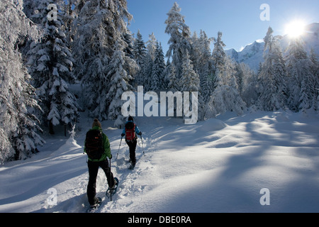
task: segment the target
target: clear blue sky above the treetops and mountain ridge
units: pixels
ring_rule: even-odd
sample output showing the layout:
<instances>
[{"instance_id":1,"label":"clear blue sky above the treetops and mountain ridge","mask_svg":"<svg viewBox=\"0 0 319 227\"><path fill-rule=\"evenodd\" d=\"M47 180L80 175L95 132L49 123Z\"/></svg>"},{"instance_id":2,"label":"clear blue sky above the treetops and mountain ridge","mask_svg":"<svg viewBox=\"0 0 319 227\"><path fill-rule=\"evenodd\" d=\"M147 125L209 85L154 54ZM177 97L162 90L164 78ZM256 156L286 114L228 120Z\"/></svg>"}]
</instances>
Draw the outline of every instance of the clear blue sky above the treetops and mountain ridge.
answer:
<instances>
[{"instance_id":1,"label":"clear blue sky above the treetops and mountain ridge","mask_svg":"<svg viewBox=\"0 0 319 227\"><path fill-rule=\"evenodd\" d=\"M254 40L264 38L271 26L274 35L284 35L287 23L303 19L306 23L319 22L318 0L127 0L128 11L133 15L129 29L138 29L146 42L151 33L167 51L169 35L164 33L167 13L176 1L191 33L201 30L208 37L223 32L226 49L240 50ZM262 21L262 4L269 5L269 21Z\"/></svg>"}]
</instances>

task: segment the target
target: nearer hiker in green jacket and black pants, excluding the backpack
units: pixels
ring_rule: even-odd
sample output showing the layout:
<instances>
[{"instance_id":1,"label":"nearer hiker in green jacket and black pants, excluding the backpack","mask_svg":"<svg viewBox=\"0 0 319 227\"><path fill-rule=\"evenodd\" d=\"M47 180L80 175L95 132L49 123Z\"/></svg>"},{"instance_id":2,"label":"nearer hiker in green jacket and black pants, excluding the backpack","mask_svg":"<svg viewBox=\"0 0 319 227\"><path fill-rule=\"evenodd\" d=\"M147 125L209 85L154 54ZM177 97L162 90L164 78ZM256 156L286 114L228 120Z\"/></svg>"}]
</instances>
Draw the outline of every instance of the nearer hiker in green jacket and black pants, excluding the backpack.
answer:
<instances>
[{"instance_id":1,"label":"nearer hiker in green jacket and black pants, excluding the backpack","mask_svg":"<svg viewBox=\"0 0 319 227\"><path fill-rule=\"evenodd\" d=\"M105 172L106 178L108 180L108 187L113 188L116 184L113 174L110 170L110 167L108 166L108 159L112 158L111 155L111 148L110 148L110 142L108 141L108 137L106 134L102 132L102 126L98 119L94 119L94 122L92 124L92 128L89 131L98 130L102 133L102 145L103 145L103 154L99 159L92 159L91 157L88 157L87 165L89 167L89 184L87 186L87 197L89 199L89 204L91 206L95 206L100 201L96 198L96 177L99 172L99 167ZM86 148L86 141L84 143L84 153L87 153Z\"/></svg>"}]
</instances>

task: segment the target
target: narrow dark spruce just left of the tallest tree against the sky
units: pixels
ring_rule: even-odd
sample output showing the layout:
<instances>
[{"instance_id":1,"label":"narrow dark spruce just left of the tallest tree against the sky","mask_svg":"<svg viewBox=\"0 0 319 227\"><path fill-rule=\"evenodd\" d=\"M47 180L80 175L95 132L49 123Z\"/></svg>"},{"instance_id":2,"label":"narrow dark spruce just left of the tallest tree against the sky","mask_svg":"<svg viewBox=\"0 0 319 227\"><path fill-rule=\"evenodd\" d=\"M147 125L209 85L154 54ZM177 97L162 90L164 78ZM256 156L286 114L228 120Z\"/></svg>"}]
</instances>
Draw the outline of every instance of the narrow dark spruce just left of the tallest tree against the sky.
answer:
<instances>
[{"instance_id":1,"label":"narrow dark spruce just left of the tallest tree against the sky","mask_svg":"<svg viewBox=\"0 0 319 227\"><path fill-rule=\"evenodd\" d=\"M164 53L162 49L162 45L160 43L156 43L156 50L154 55L153 67L152 67L152 75L151 75L151 90L159 91L164 89L164 72L165 70L165 61L164 61Z\"/></svg>"}]
</instances>

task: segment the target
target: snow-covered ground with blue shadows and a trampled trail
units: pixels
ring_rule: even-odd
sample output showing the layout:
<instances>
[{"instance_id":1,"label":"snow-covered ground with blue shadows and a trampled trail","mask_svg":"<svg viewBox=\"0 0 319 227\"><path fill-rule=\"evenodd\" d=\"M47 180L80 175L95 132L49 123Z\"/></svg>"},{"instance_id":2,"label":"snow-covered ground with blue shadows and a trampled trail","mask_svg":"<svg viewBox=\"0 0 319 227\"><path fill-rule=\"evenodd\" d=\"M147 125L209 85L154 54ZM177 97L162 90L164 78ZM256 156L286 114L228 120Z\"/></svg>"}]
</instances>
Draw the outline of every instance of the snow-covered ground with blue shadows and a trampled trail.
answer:
<instances>
[{"instance_id":1,"label":"snow-covered ground with blue shadows and a trampled trail","mask_svg":"<svg viewBox=\"0 0 319 227\"><path fill-rule=\"evenodd\" d=\"M91 121L82 118L74 139L46 135L40 153L1 165L0 212L85 212L82 147ZM168 117L136 122L143 143L139 140L133 171L124 142L116 160L121 130L102 122L120 184L108 201L99 171L99 212L319 212L318 115L227 113L196 125ZM262 206L261 198L270 204Z\"/></svg>"}]
</instances>

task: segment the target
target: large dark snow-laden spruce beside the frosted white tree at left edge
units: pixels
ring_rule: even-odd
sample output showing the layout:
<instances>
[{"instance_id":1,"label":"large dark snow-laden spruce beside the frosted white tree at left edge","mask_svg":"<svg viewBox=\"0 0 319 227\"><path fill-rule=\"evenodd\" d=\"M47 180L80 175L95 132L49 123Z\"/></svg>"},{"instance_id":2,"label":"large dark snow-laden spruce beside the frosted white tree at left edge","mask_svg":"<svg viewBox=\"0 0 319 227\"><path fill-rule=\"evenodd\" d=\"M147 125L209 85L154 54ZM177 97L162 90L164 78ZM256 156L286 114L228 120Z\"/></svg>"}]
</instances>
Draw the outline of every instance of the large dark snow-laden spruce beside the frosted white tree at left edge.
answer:
<instances>
[{"instance_id":1,"label":"large dark snow-laden spruce beside the frosted white tree at left edge","mask_svg":"<svg viewBox=\"0 0 319 227\"><path fill-rule=\"evenodd\" d=\"M42 15L40 27L43 28L43 38L39 43L33 42L30 45L28 70L43 109L43 113L38 113L38 116L42 116L40 120L48 124L53 134L53 126L74 123L79 114L77 100L67 85L67 82L74 82L74 60L67 48L60 15L57 14L56 20L47 18L49 4L49 0L43 0L38 5L38 14Z\"/></svg>"}]
</instances>

